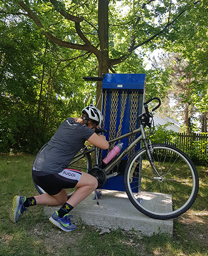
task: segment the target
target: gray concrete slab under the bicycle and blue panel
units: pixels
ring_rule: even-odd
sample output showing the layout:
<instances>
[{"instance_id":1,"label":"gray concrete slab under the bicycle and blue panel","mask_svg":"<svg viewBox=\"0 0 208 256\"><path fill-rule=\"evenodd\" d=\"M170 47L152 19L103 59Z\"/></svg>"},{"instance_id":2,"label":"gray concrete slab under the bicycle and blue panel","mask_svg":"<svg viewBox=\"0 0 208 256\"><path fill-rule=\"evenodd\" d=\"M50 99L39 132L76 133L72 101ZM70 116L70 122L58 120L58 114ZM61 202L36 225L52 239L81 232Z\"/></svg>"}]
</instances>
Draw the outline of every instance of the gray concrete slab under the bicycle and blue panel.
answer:
<instances>
[{"instance_id":1,"label":"gray concrete slab under the bicycle and blue panel","mask_svg":"<svg viewBox=\"0 0 208 256\"><path fill-rule=\"evenodd\" d=\"M95 194L92 193L84 201L78 204L71 214L74 221L81 219L86 225L105 227L108 229L123 229L126 231L140 231L141 234L151 236L158 233L166 233L172 235L173 220L157 220L147 217L140 213L129 201L128 196L122 191L102 190L99 205L93 200ZM147 194L146 202L151 201L154 207L172 207L172 200L169 195ZM45 214L50 217L60 207L44 207Z\"/></svg>"}]
</instances>

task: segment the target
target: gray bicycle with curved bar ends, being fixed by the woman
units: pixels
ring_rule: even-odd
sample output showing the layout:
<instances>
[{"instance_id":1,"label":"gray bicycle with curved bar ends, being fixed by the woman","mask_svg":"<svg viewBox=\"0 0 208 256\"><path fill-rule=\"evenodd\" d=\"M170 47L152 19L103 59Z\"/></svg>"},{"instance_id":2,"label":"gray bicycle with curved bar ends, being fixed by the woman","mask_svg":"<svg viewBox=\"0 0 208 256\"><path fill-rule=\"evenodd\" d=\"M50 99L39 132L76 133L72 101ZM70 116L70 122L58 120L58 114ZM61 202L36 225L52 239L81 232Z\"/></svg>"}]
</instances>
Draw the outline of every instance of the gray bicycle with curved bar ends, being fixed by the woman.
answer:
<instances>
[{"instance_id":1,"label":"gray bicycle with curved bar ends, being fixed by the woman","mask_svg":"<svg viewBox=\"0 0 208 256\"><path fill-rule=\"evenodd\" d=\"M158 105L148 110L148 104L157 100ZM147 139L145 127L154 127L151 122L153 113L161 105L159 98L154 97L144 103L145 112L138 116L139 128L109 140L109 144L132 136L140 135L106 166L99 161L99 150L95 146L86 145L73 158L68 168L84 170L98 180L97 189L106 180L119 175L114 167L118 167L122 159L135 145L142 142L143 147L134 153L125 167L124 186L130 202L148 217L154 219L172 219L186 212L197 198L199 178L197 170L190 158L174 146L167 144L151 144ZM96 129L96 133L107 132ZM91 153L95 153L95 164L92 166ZM40 194L44 191L36 184Z\"/></svg>"}]
</instances>

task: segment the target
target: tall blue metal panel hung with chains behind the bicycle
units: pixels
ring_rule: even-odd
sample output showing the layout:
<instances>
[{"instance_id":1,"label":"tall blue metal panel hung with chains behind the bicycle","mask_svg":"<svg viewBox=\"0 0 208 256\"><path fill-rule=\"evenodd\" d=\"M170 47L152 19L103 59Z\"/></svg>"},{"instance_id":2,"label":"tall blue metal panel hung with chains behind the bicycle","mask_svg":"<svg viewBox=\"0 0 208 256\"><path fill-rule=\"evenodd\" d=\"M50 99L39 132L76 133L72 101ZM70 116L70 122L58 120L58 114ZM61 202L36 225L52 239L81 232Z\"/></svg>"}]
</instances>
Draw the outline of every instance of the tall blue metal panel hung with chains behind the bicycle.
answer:
<instances>
[{"instance_id":1,"label":"tall blue metal panel hung with chains behind the bicycle","mask_svg":"<svg viewBox=\"0 0 208 256\"><path fill-rule=\"evenodd\" d=\"M138 128L137 116L142 112L143 96L145 93L145 74L110 74L107 73L102 82L103 101L102 101L102 113L105 116L105 129L109 132L106 135L106 139L113 133L115 136L118 133L120 120L123 115L121 134L130 132L130 126ZM116 99L115 96L116 95ZM125 95L125 100L124 100ZM135 97L135 95L137 95ZM116 102L115 102L116 101ZM116 120L112 119L112 108L116 110ZM115 126L112 130L110 125L112 121ZM125 148L129 144L129 139L122 140ZM135 151L140 148L140 145L136 146ZM102 158L107 155L107 150L103 150ZM125 191L124 189L124 169L128 156L124 157L122 164L118 168L119 176L113 177L107 180L102 189Z\"/></svg>"}]
</instances>

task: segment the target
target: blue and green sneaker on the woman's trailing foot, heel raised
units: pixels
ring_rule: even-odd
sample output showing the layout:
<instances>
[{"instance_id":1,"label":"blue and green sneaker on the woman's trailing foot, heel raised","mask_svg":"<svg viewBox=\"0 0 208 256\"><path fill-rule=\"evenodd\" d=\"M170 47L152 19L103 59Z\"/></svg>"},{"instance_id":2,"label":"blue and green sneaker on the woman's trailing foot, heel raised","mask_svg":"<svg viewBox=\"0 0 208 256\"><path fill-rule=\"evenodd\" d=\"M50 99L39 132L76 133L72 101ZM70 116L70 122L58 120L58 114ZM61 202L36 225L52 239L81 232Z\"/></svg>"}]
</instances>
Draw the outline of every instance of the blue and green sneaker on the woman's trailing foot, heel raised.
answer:
<instances>
[{"instance_id":1,"label":"blue and green sneaker on the woman's trailing foot, heel raised","mask_svg":"<svg viewBox=\"0 0 208 256\"><path fill-rule=\"evenodd\" d=\"M15 196L13 198L13 206L10 214L10 219L13 223L18 222L20 216L28 209L23 205L26 200L25 196Z\"/></svg>"}]
</instances>

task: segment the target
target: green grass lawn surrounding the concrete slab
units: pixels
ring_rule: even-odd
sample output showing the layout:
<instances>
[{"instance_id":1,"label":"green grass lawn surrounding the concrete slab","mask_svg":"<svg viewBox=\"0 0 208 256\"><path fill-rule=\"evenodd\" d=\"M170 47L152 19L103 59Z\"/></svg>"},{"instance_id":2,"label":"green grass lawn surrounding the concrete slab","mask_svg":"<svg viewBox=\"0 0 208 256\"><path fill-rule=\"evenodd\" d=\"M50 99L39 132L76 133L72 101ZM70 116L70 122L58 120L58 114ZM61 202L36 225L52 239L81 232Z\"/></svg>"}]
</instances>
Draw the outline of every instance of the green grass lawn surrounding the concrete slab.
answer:
<instances>
[{"instance_id":1,"label":"green grass lawn surrounding the concrete slab","mask_svg":"<svg viewBox=\"0 0 208 256\"><path fill-rule=\"evenodd\" d=\"M200 189L193 207L174 220L174 235L142 236L123 230L77 225L63 232L51 225L43 206L32 207L17 224L9 220L13 197L37 195L31 178L34 156L0 155L0 255L208 255L208 168L198 166Z\"/></svg>"}]
</instances>

